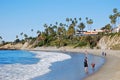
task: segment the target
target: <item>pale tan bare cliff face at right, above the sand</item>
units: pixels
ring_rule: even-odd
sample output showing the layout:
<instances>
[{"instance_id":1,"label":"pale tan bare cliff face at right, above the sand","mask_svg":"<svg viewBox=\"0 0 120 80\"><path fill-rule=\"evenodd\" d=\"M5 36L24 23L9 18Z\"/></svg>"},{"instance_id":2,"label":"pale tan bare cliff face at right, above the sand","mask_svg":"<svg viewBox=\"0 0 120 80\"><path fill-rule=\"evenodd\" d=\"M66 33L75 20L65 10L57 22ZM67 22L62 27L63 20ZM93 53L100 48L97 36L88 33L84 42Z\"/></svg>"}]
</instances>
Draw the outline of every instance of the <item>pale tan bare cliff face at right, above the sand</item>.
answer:
<instances>
[{"instance_id":1,"label":"pale tan bare cliff face at right, above the sand","mask_svg":"<svg viewBox=\"0 0 120 80\"><path fill-rule=\"evenodd\" d=\"M97 45L101 49L119 49L120 50L120 35L110 35L102 37Z\"/></svg>"}]
</instances>

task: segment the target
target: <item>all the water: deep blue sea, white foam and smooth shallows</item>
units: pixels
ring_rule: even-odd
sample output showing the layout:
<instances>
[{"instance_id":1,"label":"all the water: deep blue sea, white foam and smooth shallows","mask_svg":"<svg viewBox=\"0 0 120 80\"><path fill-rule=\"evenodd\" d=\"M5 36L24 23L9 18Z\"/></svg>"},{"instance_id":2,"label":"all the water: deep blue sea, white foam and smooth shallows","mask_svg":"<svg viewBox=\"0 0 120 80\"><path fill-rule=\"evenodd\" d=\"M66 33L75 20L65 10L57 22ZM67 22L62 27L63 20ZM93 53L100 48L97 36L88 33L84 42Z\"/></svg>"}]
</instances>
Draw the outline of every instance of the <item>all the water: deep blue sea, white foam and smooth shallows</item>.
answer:
<instances>
[{"instance_id":1,"label":"all the water: deep blue sea, white foam and smooth shallows","mask_svg":"<svg viewBox=\"0 0 120 80\"><path fill-rule=\"evenodd\" d=\"M82 80L97 71L104 59L88 55L89 65L95 61L93 71L84 72L84 54L42 51L0 51L0 80Z\"/></svg>"}]
</instances>

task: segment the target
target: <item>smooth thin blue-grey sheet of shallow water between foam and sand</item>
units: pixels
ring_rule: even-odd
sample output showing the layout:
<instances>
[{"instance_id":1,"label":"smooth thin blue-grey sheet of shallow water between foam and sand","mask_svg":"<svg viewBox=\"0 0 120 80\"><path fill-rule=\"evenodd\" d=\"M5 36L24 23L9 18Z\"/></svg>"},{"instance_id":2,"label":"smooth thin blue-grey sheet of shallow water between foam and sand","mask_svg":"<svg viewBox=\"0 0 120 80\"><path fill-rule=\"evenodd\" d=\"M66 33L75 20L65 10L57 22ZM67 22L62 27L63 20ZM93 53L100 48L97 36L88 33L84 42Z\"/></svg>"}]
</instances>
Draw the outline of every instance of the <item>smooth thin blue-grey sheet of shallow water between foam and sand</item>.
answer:
<instances>
[{"instance_id":1,"label":"smooth thin blue-grey sheet of shallow water between foam and sand","mask_svg":"<svg viewBox=\"0 0 120 80\"><path fill-rule=\"evenodd\" d=\"M53 63L50 67L51 71L43 76L38 76L33 80L83 80L85 77L96 72L105 62L105 59L99 56L87 55L88 57L88 71L86 74L84 71L84 54L67 52L71 58ZM95 69L91 68L91 63L96 64Z\"/></svg>"}]
</instances>

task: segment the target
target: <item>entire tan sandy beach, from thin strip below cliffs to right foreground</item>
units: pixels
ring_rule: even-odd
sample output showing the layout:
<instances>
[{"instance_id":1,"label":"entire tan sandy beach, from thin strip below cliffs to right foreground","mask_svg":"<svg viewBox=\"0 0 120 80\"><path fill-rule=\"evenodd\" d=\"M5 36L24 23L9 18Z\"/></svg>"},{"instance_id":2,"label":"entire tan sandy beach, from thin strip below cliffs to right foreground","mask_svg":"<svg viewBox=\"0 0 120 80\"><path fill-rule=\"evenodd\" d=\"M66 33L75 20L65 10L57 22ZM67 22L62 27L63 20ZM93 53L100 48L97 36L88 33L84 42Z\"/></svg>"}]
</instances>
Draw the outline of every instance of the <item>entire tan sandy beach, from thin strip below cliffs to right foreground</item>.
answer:
<instances>
[{"instance_id":1,"label":"entire tan sandy beach, from thin strip below cliffs to right foreground","mask_svg":"<svg viewBox=\"0 0 120 80\"><path fill-rule=\"evenodd\" d=\"M85 52L101 56L102 51L107 53L105 56L105 64L94 74L89 75L84 80L120 80L120 51L119 50L97 50L97 49L72 49L72 48L35 48L34 50L45 51L70 51L70 52Z\"/></svg>"}]
</instances>

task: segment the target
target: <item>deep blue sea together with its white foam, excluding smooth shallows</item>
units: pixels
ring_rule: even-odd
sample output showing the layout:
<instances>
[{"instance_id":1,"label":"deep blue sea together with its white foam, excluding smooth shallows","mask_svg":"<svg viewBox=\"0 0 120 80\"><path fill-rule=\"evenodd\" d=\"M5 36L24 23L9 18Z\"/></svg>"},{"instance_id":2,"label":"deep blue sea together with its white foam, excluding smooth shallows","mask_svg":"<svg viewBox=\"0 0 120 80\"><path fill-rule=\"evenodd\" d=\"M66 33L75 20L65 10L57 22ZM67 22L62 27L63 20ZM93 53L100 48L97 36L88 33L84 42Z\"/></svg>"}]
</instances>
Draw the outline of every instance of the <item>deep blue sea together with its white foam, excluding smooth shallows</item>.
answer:
<instances>
[{"instance_id":1,"label":"deep blue sea together with its white foam, excluding smooth shallows","mask_svg":"<svg viewBox=\"0 0 120 80\"><path fill-rule=\"evenodd\" d=\"M0 80L31 80L49 73L52 63L70 56L42 51L0 51Z\"/></svg>"}]
</instances>

